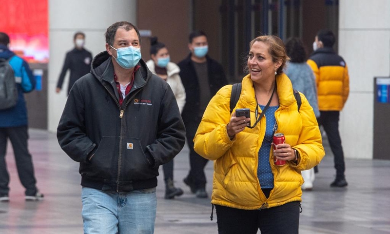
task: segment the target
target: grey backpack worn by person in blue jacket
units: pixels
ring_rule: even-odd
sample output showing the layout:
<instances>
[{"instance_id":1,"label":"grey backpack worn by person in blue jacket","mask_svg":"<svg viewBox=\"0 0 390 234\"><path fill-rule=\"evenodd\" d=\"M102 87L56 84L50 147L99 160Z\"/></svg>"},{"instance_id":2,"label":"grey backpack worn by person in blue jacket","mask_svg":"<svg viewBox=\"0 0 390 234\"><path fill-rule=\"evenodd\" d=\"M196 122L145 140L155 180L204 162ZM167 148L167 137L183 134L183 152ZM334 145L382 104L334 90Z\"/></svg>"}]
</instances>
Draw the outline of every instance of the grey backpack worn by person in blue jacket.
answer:
<instances>
[{"instance_id":1,"label":"grey backpack worn by person in blue jacket","mask_svg":"<svg viewBox=\"0 0 390 234\"><path fill-rule=\"evenodd\" d=\"M9 109L18 103L18 88L14 70L9 64L10 59L0 59L0 110Z\"/></svg>"}]
</instances>

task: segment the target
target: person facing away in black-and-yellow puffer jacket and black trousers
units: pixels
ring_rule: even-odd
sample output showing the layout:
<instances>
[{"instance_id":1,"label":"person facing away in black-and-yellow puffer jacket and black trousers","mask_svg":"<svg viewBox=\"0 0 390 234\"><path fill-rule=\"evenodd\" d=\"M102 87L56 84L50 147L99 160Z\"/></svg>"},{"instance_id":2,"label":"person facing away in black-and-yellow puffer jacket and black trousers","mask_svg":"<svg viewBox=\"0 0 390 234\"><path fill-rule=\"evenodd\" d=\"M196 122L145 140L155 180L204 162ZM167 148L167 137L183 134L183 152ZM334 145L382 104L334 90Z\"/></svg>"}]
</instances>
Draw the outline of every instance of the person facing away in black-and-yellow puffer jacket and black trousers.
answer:
<instances>
[{"instance_id":1,"label":"person facing away in black-and-yellow puffer jacket and black trousers","mask_svg":"<svg viewBox=\"0 0 390 234\"><path fill-rule=\"evenodd\" d=\"M335 42L336 38L332 31L320 30L315 36L314 52L308 64L312 67L317 85L320 110L318 124L324 127L334 156L336 178L331 187L345 187L348 183L345 178L344 152L338 122L340 111L350 93L350 78L346 62L332 48Z\"/></svg>"}]
</instances>

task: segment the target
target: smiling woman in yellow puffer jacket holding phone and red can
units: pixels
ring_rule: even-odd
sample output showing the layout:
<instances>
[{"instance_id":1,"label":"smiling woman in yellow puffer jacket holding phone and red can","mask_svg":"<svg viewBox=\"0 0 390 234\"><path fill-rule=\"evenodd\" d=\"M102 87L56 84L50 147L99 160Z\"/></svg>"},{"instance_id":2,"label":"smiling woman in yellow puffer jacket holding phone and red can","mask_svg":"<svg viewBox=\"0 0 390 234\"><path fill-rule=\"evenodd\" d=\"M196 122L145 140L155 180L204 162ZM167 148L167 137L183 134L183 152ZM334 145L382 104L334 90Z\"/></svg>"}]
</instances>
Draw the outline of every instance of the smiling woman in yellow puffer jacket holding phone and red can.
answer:
<instances>
[{"instance_id":1,"label":"smiling woman in yellow puffer jacket holding phone and red can","mask_svg":"<svg viewBox=\"0 0 390 234\"><path fill-rule=\"evenodd\" d=\"M212 204L219 234L298 234L302 170L325 155L312 107L303 94L298 111L290 79L283 74L288 56L276 36L250 43L249 75L231 114L232 86L210 101L196 132L195 151L214 163ZM235 109L249 108L250 118ZM272 150L274 133L284 144ZM274 159L286 163L274 164Z\"/></svg>"}]
</instances>

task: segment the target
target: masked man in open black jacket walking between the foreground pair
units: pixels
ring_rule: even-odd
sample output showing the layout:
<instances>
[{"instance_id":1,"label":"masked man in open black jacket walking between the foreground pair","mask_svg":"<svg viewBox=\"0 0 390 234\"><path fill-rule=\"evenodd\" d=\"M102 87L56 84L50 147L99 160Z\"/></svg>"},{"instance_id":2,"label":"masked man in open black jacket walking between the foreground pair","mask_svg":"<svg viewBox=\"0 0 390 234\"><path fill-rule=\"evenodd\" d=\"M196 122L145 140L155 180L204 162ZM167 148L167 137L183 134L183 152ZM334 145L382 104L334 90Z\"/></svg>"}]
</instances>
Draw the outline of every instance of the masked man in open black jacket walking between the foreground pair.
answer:
<instances>
[{"instance_id":1,"label":"masked man in open black jacket walking between the foreground pair","mask_svg":"<svg viewBox=\"0 0 390 234\"><path fill-rule=\"evenodd\" d=\"M184 178L184 183L197 197L207 197L204 168L208 160L196 154L193 139L210 99L228 81L221 64L207 55L208 41L204 32L194 31L190 34L188 49L191 54L177 64L187 97L181 115L190 148L190 172Z\"/></svg>"}]
</instances>

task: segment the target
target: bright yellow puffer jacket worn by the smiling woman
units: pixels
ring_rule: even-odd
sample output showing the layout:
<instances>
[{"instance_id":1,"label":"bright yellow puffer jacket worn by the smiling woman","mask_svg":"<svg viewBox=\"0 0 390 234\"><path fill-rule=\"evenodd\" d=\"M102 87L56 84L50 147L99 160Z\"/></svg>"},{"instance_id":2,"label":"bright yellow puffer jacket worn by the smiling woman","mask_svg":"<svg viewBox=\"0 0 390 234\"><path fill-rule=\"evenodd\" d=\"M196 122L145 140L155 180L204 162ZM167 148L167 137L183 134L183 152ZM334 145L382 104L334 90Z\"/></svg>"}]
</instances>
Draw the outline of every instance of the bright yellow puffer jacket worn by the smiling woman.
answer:
<instances>
[{"instance_id":1,"label":"bright yellow puffer jacket worn by the smiling woman","mask_svg":"<svg viewBox=\"0 0 390 234\"><path fill-rule=\"evenodd\" d=\"M196 132L195 151L214 163L212 203L245 210L270 208L291 201L301 201L300 171L317 165L325 155L321 134L312 107L301 94L298 112L290 79L282 74L276 77L279 108L275 112L276 132L286 136L286 143L296 149L300 158L284 166L274 166L270 151L270 164L274 188L267 199L257 178L258 152L265 135L266 119L253 129L245 128L230 140L226 125L230 121L232 85L222 87L211 99ZM250 108L254 124L256 100L250 75L242 80L241 96L236 108Z\"/></svg>"}]
</instances>

